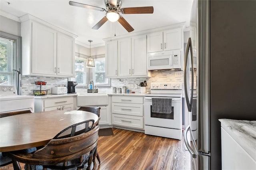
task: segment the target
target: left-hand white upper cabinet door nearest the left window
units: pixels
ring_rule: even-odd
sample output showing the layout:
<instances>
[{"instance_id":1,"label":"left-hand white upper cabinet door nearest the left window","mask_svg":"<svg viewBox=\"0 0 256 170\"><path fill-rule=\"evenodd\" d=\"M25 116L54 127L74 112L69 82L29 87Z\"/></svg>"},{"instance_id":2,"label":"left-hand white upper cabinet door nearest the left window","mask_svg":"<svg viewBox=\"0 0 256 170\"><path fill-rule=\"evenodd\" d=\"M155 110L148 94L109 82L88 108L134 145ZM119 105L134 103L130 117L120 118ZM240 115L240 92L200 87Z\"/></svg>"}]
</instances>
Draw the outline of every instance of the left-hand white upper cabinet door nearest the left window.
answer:
<instances>
[{"instance_id":1,"label":"left-hand white upper cabinet door nearest the left window","mask_svg":"<svg viewBox=\"0 0 256 170\"><path fill-rule=\"evenodd\" d=\"M32 22L32 73L56 75L57 32Z\"/></svg>"}]
</instances>

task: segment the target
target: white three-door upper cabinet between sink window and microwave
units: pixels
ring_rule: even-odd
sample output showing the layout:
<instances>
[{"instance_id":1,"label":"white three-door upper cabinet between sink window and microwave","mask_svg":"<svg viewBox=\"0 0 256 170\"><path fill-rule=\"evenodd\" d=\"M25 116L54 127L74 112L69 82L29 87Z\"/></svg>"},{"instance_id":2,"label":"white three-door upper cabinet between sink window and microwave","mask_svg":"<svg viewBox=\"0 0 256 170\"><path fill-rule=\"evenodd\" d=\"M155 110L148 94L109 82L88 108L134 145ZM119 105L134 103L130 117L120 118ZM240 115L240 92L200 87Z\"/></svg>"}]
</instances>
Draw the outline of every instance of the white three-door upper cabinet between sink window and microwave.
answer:
<instances>
[{"instance_id":1,"label":"white three-door upper cabinet between sink window and microwave","mask_svg":"<svg viewBox=\"0 0 256 170\"><path fill-rule=\"evenodd\" d=\"M148 77L146 35L107 41L106 77Z\"/></svg>"}]
</instances>

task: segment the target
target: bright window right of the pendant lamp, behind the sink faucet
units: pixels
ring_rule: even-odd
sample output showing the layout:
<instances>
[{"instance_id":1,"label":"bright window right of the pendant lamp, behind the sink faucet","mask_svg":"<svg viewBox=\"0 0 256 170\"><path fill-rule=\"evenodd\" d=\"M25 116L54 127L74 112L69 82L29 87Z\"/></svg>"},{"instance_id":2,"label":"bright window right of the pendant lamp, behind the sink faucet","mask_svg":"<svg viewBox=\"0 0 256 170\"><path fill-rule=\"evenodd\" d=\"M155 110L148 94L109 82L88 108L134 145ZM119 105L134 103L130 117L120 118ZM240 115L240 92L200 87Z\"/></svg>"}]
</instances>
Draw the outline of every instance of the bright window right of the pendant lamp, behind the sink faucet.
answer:
<instances>
[{"instance_id":1,"label":"bright window right of the pendant lamp, behind the sink faucet","mask_svg":"<svg viewBox=\"0 0 256 170\"><path fill-rule=\"evenodd\" d=\"M94 59L95 67L93 68L94 84L97 86L110 86L110 79L106 78L105 57Z\"/></svg>"}]
</instances>

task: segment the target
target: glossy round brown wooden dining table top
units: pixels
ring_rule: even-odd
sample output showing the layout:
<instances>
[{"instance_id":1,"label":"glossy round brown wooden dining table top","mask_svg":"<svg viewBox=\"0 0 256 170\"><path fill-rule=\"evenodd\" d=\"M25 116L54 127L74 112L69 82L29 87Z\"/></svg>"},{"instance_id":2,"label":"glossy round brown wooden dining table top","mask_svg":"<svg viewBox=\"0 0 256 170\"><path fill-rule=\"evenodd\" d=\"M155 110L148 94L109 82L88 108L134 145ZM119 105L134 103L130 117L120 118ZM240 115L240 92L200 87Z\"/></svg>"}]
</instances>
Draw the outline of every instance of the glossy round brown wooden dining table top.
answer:
<instances>
[{"instance_id":1,"label":"glossy round brown wooden dining table top","mask_svg":"<svg viewBox=\"0 0 256 170\"><path fill-rule=\"evenodd\" d=\"M47 144L64 128L98 116L86 111L45 111L0 118L0 152Z\"/></svg>"}]
</instances>

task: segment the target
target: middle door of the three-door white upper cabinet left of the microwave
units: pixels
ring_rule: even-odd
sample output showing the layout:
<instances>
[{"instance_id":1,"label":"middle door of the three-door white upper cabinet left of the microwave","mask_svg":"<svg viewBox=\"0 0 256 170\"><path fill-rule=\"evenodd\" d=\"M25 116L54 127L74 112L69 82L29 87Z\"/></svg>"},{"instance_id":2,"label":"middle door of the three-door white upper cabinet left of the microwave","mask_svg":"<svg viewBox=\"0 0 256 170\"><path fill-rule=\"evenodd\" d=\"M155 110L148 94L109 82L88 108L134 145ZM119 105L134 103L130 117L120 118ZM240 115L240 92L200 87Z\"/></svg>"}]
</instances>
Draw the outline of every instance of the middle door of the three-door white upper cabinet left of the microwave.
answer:
<instances>
[{"instance_id":1,"label":"middle door of the three-door white upper cabinet left of the microwave","mask_svg":"<svg viewBox=\"0 0 256 170\"><path fill-rule=\"evenodd\" d=\"M131 38L118 40L118 76L130 76L131 70Z\"/></svg>"}]
</instances>

